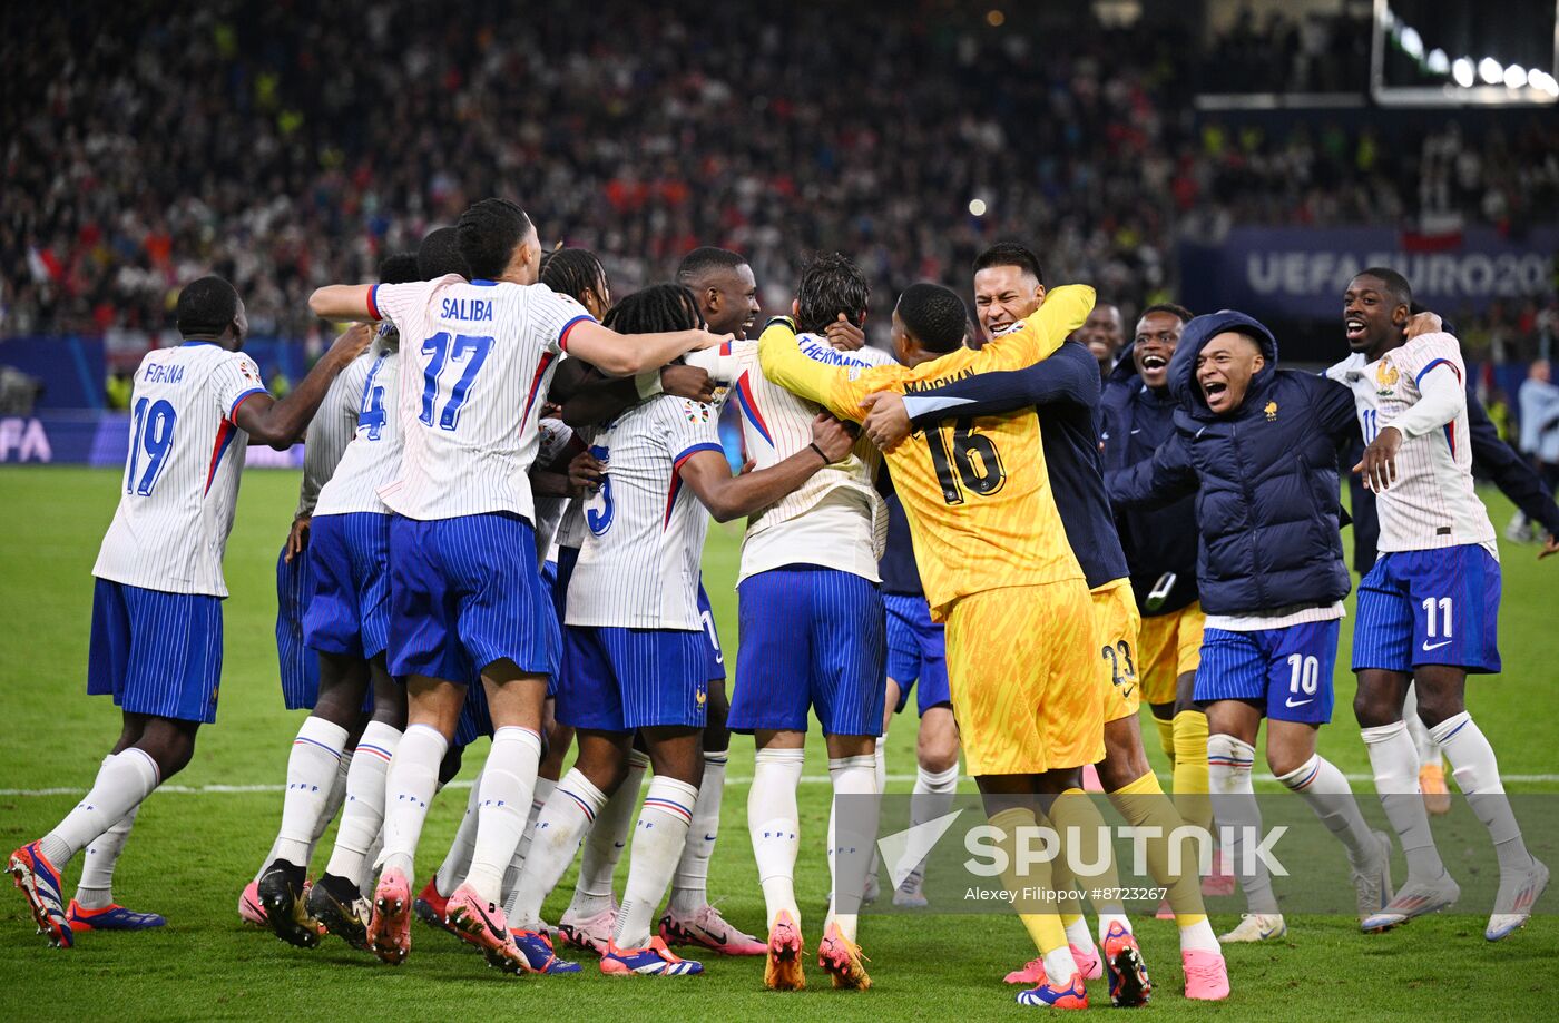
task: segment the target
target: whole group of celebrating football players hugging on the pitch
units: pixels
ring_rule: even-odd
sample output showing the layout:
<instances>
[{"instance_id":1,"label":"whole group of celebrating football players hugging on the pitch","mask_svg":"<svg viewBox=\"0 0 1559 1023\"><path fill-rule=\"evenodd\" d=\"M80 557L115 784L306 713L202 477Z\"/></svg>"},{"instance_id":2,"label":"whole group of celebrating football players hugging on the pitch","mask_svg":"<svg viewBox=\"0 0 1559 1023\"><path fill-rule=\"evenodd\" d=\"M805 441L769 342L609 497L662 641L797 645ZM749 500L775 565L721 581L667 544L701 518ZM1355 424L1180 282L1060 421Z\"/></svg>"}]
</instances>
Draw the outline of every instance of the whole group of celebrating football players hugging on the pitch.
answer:
<instances>
[{"instance_id":1,"label":"whole group of celebrating football players hugging on the pitch","mask_svg":"<svg viewBox=\"0 0 1559 1023\"><path fill-rule=\"evenodd\" d=\"M864 345L864 274L822 256L792 315L755 340L739 254L695 250L675 282L613 301L592 254L543 254L524 211L483 200L387 259L379 284L315 292L316 315L354 326L273 399L239 351L234 288L189 284L182 345L136 373L118 510L94 569L87 691L112 694L123 731L86 798L9 859L39 926L69 947L162 923L114 901L114 864L140 803L215 719L245 448L306 430L278 639L288 706L312 713L239 904L287 942L335 934L399 964L419 915L511 973L578 972L553 951L561 936L608 975L700 973L670 951L692 945L765 956L765 986L804 987L797 786L815 714L836 797L817 964L836 987L870 987L857 917L878 897L878 803L848 797L882 792L881 736L915 685L912 822L946 812L962 749L1009 853L1004 881L1032 894L1015 903L1037 954L1007 976L1024 1004L1087 1007L1084 981L1105 972L1115 1004L1152 990L1085 766L1127 823L1161 836L1147 867L1179 925L1186 998L1228 995L1221 942L1285 933L1260 858L1241 848L1261 823L1263 717L1272 772L1347 850L1363 929L1450 906L1411 691L1406 716L1428 727L1495 845L1486 937L1525 923L1548 870L1462 703L1469 672L1500 669L1465 368L1408 282L1380 268L1353 279L1352 354L1320 376L1280 370L1250 317L1161 304L1104 379L1076 340L1091 288L1046 290L1013 243L979 256L973 285L977 326L956 292L907 287L887 352ZM748 460L734 474L726 401ZM1359 440L1380 557L1359 586L1355 710L1408 862L1397 887L1391 839L1316 752L1350 589L1339 452ZM748 519L730 697L700 577L711 515ZM1143 749L1144 699L1174 800ZM706 892L733 731L756 744L747 819L765 937L725 922ZM429 803L483 735L454 845L416 889ZM1180 870L1171 848L1177 828L1214 816L1230 836L1221 859L1250 864L1249 914L1221 937L1202 895L1233 880ZM1016 853L1040 825L1090 848L1029 862ZM83 851L67 904L62 870ZM543 903L577 855L574 898L550 928ZM1077 878L1077 862L1101 869ZM924 906L924 864L890 867L893 901ZM1055 895L1079 884L1094 892L1098 942Z\"/></svg>"}]
</instances>

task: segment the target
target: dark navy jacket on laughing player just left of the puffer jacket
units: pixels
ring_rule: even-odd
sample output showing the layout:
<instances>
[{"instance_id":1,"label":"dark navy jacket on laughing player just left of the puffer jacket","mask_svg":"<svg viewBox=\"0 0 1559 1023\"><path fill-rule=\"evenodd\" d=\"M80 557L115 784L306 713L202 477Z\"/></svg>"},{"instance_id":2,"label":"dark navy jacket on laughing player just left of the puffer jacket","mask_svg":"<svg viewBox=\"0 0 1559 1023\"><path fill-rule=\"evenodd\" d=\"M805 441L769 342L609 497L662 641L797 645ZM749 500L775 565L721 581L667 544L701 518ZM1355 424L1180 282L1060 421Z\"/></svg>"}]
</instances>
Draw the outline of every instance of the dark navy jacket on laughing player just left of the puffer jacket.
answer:
<instances>
[{"instance_id":1,"label":"dark navy jacket on laughing player just left of the puffer jacket","mask_svg":"<svg viewBox=\"0 0 1559 1023\"><path fill-rule=\"evenodd\" d=\"M1104 429L1099 440L1105 473L1129 469L1152 458L1174 437L1174 413L1179 407L1168 387L1155 391L1143 384L1127 352L1104 384ZM1143 602L1165 572L1174 572L1175 583L1152 614L1179 611L1197 599L1194 497L1182 497L1163 507L1118 510L1115 521L1130 566L1132 591L1143 614L1149 613Z\"/></svg>"}]
</instances>

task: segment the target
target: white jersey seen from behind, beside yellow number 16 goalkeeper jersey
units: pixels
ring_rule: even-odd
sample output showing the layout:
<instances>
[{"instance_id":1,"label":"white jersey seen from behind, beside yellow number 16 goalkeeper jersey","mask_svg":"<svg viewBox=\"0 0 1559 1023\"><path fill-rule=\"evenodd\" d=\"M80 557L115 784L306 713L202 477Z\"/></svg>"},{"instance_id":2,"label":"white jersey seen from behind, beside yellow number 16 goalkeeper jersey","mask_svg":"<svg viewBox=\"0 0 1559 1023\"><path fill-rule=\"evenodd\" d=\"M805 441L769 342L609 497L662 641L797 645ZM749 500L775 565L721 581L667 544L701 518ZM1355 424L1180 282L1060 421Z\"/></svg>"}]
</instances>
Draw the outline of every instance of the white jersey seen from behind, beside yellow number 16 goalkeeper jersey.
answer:
<instances>
[{"instance_id":1,"label":"white jersey seen from behind, beside yellow number 16 goalkeeper jersey","mask_svg":"<svg viewBox=\"0 0 1559 1023\"><path fill-rule=\"evenodd\" d=\"M797 335L797 345L808 357L834 366L893 363L881 348L839 351L815 334ZM741 412L744 446L756 468L778 465L812 443L818 405L764 377L756 340L689 352L686 362L730 384L726 401ZM737 583L784 565L822 565L879 582L878 560L887 546L887 505L875 485L881 463L881 452L862 435L848 458L750 516Z\"/></svg>"}]
</instances>

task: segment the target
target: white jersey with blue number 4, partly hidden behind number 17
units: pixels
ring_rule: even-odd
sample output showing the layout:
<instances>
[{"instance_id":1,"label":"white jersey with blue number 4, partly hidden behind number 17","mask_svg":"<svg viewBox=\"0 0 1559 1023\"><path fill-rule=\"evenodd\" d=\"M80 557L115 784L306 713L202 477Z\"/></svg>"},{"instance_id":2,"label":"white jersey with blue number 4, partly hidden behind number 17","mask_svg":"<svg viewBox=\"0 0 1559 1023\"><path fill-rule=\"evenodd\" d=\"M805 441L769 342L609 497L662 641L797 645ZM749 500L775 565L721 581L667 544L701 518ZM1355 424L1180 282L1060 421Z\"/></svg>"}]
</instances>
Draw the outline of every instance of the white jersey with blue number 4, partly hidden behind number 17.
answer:
<instances>
[{"instance_id":1,"label":"white jersey with blue number 4, partly hidden behind number 17","mask_svg":"<svg viewBox=\"0 0 1559 1023\"><path fill-rule=\"evenodd\" d=\"M348 374L351 381L341 396L345 409L331 409L329 415L351 421L351 443L341 451L329 482L320 490L313 513L390 515L379 490L401 471L401 416L396 415L401 395L401 338L394 327L385 324L379 340L337 382L346 381ZM315 418L326 415L321 405ZM306 458L313 455L313 424L309 426L309 444ZM307 466L304 473L307 476Z\"/></svg>"}]
</instances>

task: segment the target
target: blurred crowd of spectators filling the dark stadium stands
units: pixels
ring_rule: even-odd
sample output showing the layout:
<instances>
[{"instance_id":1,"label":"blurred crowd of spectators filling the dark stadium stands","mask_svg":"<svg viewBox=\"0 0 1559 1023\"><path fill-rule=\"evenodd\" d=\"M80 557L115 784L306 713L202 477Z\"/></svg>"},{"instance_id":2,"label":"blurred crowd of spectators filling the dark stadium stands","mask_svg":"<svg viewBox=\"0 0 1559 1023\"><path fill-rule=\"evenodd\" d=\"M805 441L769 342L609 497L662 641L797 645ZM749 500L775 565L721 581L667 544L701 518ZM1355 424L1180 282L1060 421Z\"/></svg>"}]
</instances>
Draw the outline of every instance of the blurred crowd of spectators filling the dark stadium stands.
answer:
<instances>
[{"instance_id":1,"label":"blurred crowd of spectators filling the dark stadium stands","mask_svg":"<svg viewBox=\"0 0 1559 1023\"><path fill-rule=\"evenodd\" d=\"M541 211L546 239L600 251L627 290L697 243L750 254L775 295L801 254L842 250L878 304L956 282L1007 235L1045 237L1062 279L1155 301L1179 232L1422 211L1504 226L1559 207L1551 122L1398 147L1335 123L1191 119L1193 90L1258 81L1252 61L1274 87L1350 87L1328 70L1345 25L1239 20L1199 47L1188 30L1035 14L995 28L929 2L893 20L622 0L589 19L366 0L310 19L234 0L156 22L86 9L0 16L19 83L0 112L0 335L161 329L176 282L209 270L257 335L304 337L315 285L369 278L493 192ZM1260 59L1294 41L1289 64Z\"/></svg>"}]
</instances>

